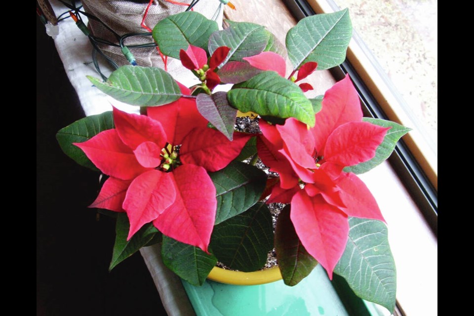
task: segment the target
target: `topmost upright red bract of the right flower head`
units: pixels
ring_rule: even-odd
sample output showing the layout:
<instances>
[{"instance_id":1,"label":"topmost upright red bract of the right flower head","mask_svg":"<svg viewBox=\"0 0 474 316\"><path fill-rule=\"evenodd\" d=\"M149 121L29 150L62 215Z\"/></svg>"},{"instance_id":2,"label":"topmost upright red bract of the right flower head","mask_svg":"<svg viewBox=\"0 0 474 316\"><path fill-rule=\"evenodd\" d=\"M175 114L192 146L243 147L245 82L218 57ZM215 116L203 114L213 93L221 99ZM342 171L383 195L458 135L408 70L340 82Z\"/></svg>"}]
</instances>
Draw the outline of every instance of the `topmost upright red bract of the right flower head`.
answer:
<instances>
[{"instance_id":1,"label":"topmost upright red bract of the right flower head","mask_svg":"<svg viewBox=\"0 0 474 316\"><path fill-rule=\"evenodd\" d=\"M322 99L322 110L316 113L316 125L313 132L318 155L334 129L344 123L361 120L362 110L359 97L347 75L345 79L336 82L326 91Z\"/></svg>"}]
</instances>

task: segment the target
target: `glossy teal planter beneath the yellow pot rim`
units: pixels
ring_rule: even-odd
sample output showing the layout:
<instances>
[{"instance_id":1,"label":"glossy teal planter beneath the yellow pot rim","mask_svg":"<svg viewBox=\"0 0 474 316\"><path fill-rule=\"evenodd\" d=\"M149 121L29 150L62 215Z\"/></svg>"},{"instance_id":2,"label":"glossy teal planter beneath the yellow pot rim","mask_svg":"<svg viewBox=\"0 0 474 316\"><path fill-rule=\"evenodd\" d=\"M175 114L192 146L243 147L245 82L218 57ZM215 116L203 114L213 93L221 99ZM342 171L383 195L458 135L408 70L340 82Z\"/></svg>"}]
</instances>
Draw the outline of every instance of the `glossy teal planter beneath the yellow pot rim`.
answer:
<instances>
[{"instance_id":1,"label":"glossy teal planter beneath the yellow pot rim","mask_svg":"<svg viewBox=\"0 0 474 316\"><path fill-rule=\"evenodd\" d=\"M182 282L197 316L349 316L320 265L295 286Z\"/></svg>"}]
</instances>

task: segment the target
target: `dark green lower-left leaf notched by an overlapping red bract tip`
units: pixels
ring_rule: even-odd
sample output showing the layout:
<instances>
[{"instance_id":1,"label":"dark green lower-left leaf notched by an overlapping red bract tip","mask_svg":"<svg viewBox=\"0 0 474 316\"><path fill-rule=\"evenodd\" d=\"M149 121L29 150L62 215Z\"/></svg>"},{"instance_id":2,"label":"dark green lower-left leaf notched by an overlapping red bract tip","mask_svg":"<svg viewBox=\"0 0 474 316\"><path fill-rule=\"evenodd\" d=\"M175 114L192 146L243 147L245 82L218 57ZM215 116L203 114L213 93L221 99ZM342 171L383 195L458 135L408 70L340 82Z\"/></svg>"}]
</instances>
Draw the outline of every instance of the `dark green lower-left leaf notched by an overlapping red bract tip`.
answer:
<instances>
[{"instance_id":1,"label":"dark green lower-left leaf notched by an overlapping red bract tip","mask_svg":"<svg viewBox=\"0 0 474 316\"><path fill-rule=\"evenodd\" d=\"M152 223L144 225L127 241L130 222L126 213L119 213L117 216L117 226L115 228L116 238L114 252L110 263L109 271L115 268L120 262L130 257L132 254L146 246L157 234L158 230Z\"/></svg>"}]
</instances>

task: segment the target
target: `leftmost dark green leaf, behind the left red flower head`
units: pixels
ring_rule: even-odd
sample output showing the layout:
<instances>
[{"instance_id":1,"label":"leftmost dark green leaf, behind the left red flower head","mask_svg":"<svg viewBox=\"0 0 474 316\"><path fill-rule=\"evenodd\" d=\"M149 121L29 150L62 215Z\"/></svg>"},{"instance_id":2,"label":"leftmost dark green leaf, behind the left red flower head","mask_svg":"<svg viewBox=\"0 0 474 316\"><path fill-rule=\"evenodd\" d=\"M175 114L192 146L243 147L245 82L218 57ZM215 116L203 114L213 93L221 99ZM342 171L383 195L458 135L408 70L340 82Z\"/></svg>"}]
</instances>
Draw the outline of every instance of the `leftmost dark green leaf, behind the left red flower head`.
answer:
<instances>
[{"instance_id":1,"label":"leftmost dark green leaf, behind the left red flower head","mask_svg":"<svg viewBox=\"0 0 474 316\"><path fill-rule=\"evenodd\" d=\"M74 161L81 166L99 171L92 161L85 156L84 152L79 147L74 146L73 143L85 142L98 133L112 128L114 128L114 119L112 111L108 111L81 118L71 125L61 128L56 134L56 139L63 152Z\"/></svg>"}]
</instances>

